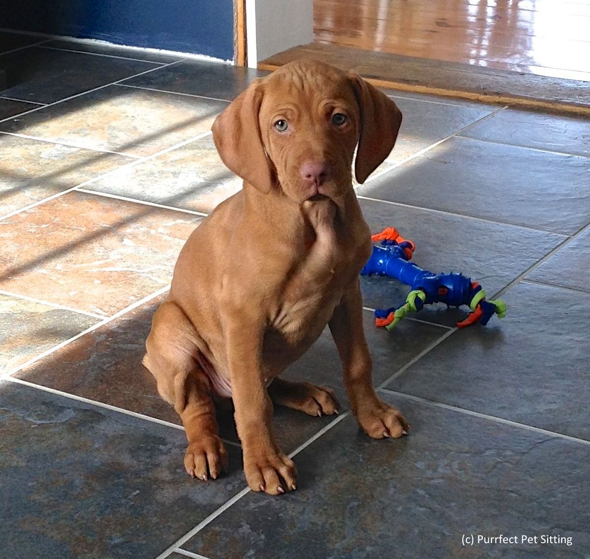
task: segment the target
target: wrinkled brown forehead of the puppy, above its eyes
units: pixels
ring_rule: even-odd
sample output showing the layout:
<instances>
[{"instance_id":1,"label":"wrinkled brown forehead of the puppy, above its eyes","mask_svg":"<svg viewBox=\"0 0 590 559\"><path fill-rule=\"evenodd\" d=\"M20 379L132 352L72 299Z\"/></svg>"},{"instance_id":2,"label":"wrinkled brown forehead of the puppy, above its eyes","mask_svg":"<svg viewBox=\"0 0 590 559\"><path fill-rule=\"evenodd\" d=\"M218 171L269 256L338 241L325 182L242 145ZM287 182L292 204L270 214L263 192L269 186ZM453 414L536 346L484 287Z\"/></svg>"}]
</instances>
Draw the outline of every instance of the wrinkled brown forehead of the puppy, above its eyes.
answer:
<instances>
[{"instance_id":1,"label":"wrinkled brown forehead of the puppy, above its eyes","mask_svg":"<svg viewBox=\"0 0 590 559\"><path fill-rule=\"evenodd\" d=\"M264 79L263 110L281 104L320 107L337 102L356 107L356 97L349 77L325 64L284 66Z\"/></svg>"}]
</instances>

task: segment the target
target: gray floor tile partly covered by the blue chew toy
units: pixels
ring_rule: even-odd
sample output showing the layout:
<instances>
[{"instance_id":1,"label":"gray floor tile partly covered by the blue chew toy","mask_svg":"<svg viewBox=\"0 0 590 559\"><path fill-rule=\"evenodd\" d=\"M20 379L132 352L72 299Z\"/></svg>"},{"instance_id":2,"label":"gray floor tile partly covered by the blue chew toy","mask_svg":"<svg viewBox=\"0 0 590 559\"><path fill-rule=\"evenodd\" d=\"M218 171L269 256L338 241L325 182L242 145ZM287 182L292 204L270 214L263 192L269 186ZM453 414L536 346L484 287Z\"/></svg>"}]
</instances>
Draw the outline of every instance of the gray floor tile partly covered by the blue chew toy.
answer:
<instances>
[{"instance_id":1,"label":"gray floor tile partly covered by the blue chew toy","mask_svg":"<svg viewBox=\"0 0 590 559\"><path fill-rule=\"evenodd\" d=\"M418 266L433 273L463 273L480 282L490 298L566 240L553 233L385 202L360 200L360 207L372 233L392 226L414 241L412 260ZM365 305L373 309L400 306L409 292L398 280L378 276L363 276L361 287ZM454 326L467 312L466 307L427 305L415 318ZM403 328L403 322L396 326Z\"/></svg>"}]
</instances>

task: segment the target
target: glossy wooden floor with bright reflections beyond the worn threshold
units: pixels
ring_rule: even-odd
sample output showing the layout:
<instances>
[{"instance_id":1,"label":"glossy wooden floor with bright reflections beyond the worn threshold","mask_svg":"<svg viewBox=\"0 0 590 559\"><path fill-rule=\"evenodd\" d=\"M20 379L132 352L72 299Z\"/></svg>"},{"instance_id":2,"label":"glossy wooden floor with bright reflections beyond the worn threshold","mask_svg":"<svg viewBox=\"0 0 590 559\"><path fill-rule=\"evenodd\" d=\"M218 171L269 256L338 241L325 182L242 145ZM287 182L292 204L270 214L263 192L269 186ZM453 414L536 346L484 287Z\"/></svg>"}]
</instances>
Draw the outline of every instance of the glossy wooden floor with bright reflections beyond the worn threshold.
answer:
<instances>
[{"instance_id":1,"label":"glossy wooden floor with bright reflections beyond the worn threshold","mask_svg":"<svg viewBox=\"0 0 590 559\"><path fill-rule=\"evenodd\" d=\"M590 81L590 0L314 0L317 43Z\"/></svg>"}]
</instances>

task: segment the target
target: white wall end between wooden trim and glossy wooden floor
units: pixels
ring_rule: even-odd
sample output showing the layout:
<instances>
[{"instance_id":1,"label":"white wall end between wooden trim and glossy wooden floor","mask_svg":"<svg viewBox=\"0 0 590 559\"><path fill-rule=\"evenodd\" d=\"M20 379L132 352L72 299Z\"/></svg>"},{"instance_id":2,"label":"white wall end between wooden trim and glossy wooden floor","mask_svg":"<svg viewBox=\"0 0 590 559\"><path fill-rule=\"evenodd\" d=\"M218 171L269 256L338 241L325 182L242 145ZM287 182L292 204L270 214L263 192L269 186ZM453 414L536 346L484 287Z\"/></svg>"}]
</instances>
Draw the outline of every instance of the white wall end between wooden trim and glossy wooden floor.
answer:
<instances>
[{"instance_id":1,"label":"white wall end between wooden trim and glossy wooden floor","mask_svg":"<svg viewBox=\"0 0 590 559\"><path fill-rule=\"evenodd\" d=\"M246 0L248 66L313 41L313 0Z\"/></svg>"}]
</instances>

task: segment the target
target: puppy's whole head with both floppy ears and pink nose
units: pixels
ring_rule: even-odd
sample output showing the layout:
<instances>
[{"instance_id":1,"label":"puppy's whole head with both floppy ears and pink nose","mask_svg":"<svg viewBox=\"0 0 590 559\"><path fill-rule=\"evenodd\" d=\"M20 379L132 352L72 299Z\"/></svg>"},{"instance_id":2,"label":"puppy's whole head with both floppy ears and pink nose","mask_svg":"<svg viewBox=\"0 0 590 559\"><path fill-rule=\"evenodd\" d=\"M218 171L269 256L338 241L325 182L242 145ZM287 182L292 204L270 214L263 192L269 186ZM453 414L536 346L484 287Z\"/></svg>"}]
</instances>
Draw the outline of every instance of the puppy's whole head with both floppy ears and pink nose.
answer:
<instances>
[{"instance_id":1,"label":"puppy's whole head with both floppy ears and pink nose","mask_svg":"<svg viewBox=\"0 0 590 559\"><path fill-rule=\"evenodd\" d=\"M257 79L213 125L221 159L267 193L300 203L338 198L388 156L402 115L359 76L317 61L295 61Z\"/></svg>"}]
</instances>

